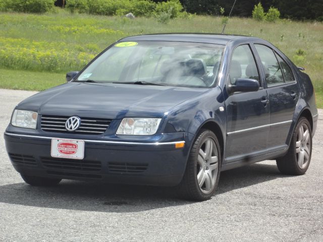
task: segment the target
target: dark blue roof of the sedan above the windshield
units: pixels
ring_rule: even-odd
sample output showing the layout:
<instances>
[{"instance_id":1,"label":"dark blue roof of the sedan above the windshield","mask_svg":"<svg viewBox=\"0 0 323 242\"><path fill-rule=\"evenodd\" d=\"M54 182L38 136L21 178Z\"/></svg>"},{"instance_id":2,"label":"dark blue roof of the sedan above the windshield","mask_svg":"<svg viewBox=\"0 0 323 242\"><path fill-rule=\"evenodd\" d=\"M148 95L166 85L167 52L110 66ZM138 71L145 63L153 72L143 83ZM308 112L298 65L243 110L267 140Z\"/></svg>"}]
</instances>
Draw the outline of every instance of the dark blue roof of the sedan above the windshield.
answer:
<instances>
[{"instance_id":1,"label":"dark blue roof of the sedan above the windshield","mask_svg":"<svg viewBox=\"0 0 323 242\"><path fill-rule=\"evenodd\" d=\"M243 35L226 34L193 34L193 33L167 33L167 34L147 34L137 35L121 39L122 41L182 41L182 42L200 42L226 45L232 39L251 38Z\"/></svg>"}]
</instances>

